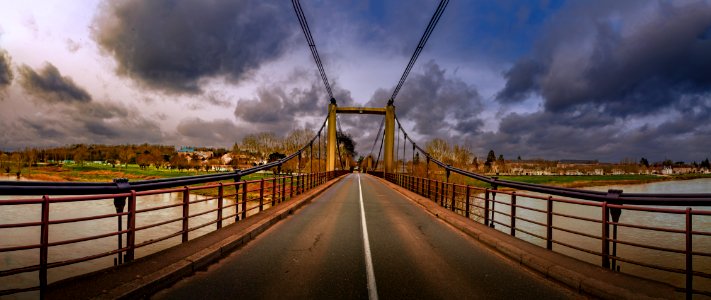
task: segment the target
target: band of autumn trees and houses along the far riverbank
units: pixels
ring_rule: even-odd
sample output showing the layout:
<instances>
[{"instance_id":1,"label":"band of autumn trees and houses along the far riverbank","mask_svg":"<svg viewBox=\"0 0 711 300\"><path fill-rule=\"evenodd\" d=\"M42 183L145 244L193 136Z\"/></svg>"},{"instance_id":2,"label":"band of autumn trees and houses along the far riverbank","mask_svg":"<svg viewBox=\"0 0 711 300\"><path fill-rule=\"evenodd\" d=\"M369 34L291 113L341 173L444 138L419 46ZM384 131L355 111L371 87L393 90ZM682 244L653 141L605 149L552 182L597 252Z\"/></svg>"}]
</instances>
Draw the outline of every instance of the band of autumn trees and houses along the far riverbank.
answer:
<instances>
[{"instance_id":1,"label":"band of autumn trees and houses along the far riverbank","mask_svg":"<svg viewBox=\"0 0 711 300\"><path fill-rule=\"evenodd\" d=\"M310 132L291 132L285 138L279 138L272 133L260 133L245 137L241 143L235 143L232 149L195 146L165 146L165 145L71 145L45 149L26 148L20 151L0 152L0 172L20 176L31 172L33 167L73 165L110 165L122 168L128 165L138 165L141 169L175 171L205 171L223 172L244 169L275 161L286 154L297 151L298 145L306 144ZM349 136L339 137L340 161L345 169L369 169L377 164L373 155L357 156L355 143ZM323 147L325 148L325 147ZM663 160L650 162L642 157L624 159L621 162L609 163L597 160L546 160L523 159L520 156L506 159L490 150L484 157L476 156L466 147L449 146L443 140L433 140L426 144L428 152L436 159L468 171L487 175L510 176L551 176L551 175L679 175L679 174L711 174L709 159L699 162L683 162ZM308 172L307 165L311 163L311 153L306 149L302 154L301 169L297 163L290 162L284 166L285 172ZM318 148L314 145L314 152ZM320 157L325 154L314 153L314 164L323 163ZM401 153L399 153L402 156ZM412 156L408 153L404 163L406 172L415 166L422 169L424 159L419 153ZM398 166L403 165L401 158ZM341 163L338 163L339 168ZM398 172L403 168L399 167Z\"/></svg>"}]
</instances>

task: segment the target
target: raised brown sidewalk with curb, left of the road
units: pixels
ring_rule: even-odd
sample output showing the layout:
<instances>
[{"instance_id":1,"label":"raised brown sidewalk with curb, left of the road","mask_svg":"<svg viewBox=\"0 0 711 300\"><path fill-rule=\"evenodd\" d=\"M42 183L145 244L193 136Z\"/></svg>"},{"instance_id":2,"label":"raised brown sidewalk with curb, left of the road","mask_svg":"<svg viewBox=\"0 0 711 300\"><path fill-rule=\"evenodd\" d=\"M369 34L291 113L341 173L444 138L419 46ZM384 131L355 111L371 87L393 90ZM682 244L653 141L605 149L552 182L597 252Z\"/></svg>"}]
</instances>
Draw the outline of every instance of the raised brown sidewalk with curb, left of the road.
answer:
<instances>
[{"instance_id":1,"label":"raised brown sidewalk with curb, left of the road","mask_svg":"<svg viewBox=\"0 0 711 300\"><path fill-rule=\"evenodd\" d=\"M287 218L347 175L245 220L187 243L136 259L130 264L69 278L49 285L47 299L135 299L149 296L219 261Z\"/></svg>"}]
</instances>

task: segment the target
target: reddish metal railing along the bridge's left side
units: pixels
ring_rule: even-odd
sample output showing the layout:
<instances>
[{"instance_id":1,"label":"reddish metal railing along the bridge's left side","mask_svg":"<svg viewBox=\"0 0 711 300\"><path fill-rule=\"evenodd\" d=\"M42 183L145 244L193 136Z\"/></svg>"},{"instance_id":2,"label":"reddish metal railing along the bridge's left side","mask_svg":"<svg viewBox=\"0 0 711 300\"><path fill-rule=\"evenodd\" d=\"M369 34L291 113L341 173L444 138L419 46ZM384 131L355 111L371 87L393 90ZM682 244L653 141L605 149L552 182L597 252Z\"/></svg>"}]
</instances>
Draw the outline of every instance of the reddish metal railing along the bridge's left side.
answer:
<instances>
[{"instance_id":1,"label":"reddish metal railing along the bridge's left side","mask_svg":"<svg viewBox=\"0 0 711 300\"><path fill-rule=\"evenodd\" d=\"M40 206L40 217L37 221L19 222L19 223L3 223L0 224L0 233L5 232L6 237L12 234L8 233L12 230L20 228L39 228L39 242L31 244L12 244L11 240L0 242L0 254L3 257L10 257L9 253L18 251L37 251L35 262L36 264L15 266L8 269L0 269L0 282L8 283L10 277L17 275L26 275L31 272L38 272L38 284L34 286L15 286L8 289L9 285L0 285L0 296L16 294L29 291L44 291L48 284L48 270L55 268L75 265L82 262L97 260L104 257L115 256L114 264L123 264L133 261L139 249L146 249L147 246L157 244L171 238L180 237L180 243L185 243L191 238L195 238L201 234L191 234L198 230L205 230L209 226L214 226L214 230L218 230L227 222L237 222L245 219L248 216L254 215L264 209L268 209L287 201L288 199L299 195L307 190L310 190L318 185L321 185L328 180L337 176L343 175L344 171L332 171L322 173L310 173L294 176L280 176L272 178L263 178L260 180L238 181L238 182L214 182L199 186L184 186L182 188L158 189L136 191L130 190L124 193L112 193L102 195L88 196L41 196L41 198L25 198L25 199L10 199L0 200L0 209L10 206ZM180 202L165 205L155 205L154 203L146 203L139 201L142 197L151 195L164 194L181 194ZM200 196L199 194L208 194L211 196ZM105 205L106 201L113 201L113 206ZM215 204L210 204L210 207L205 208L208 202L214 201ZM57 210L57 207L68 203L81 203L83 206L88 206L89 203L100 202L107 209L115 208L115 213L102 213L98 215L89 215L71 218L52 218L53 214L50 211ZM202 205L202 210L195 210ZM126 210L124 212L124 210ZM164 211L180 210L179 215L168 217L165 219L153 217L150 218L150 224L138 224L138 219L143 216L162 213ZM28 209L32 211L32 209ZM83 222L86 228L92 226L101 227L97 222L103 222L106 219L116 218L118 221L118 229L116 231L107 230L97 234L69 238L65 240L52 241L51 232L54 226L62 226L63 224ZM126 221L126 228L123 228L123 221ZM4 222L4 221L0 221ZM87 223L88 222L88 223ZM179 224L176 226L175 224ZM171 227L175 227L172 228ZM167 233L160 235L143 233L162 228ZM105 228L103 228L106 230ZM203 233L204 234L204 233ZM69 259L52 260L50 259L50 250L58 249L62 246L70 246L76 244L87 245L89 242L115 237L117 246L102 248L98 252L82 254L79 257ZM143 239L140 239L143 238ZM125 244L124 244L125 242ZM86 247L84 247L86 248ZM145 254L158 251L160 248L149 249ZM85 250L85 249L84 249ZM57 250L61 251L61 250ZM86 251L81 251L86 252ZM67 253L64 253L68 255ZM7 256L6 256L7 255ZM84 270L86 272L92 270Z\"/></svg>"}]
</instances>

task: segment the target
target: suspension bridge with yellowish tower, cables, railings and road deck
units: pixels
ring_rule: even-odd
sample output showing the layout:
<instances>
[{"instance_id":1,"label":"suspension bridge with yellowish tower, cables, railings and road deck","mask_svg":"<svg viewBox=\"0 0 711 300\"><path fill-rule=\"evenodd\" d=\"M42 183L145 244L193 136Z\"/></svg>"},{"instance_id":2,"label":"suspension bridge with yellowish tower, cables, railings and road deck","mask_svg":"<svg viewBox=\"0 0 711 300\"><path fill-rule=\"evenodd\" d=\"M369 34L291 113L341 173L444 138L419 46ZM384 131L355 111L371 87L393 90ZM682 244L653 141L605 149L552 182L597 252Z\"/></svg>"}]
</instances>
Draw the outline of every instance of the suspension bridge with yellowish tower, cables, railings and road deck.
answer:
<instances>
[{"instance_id":1,"label":"suspension bridge with yellowish tower, cables, railings and road deck","mask_svg":"<svg viewBox=\"0 0 711 300\"><path fill-rule=\"evenodd\" d=\"M395 99L447 1L382 108L338 106L292 2L330 95L315 136L234 172L0 182L0 297L711 296L711 194L500 180L448 165L408 135ZM384 116L382 164L363 173L336 163L336 116L353 113ZM3 215L18 208L30 213Z\"/></svg>"}]
</instances>

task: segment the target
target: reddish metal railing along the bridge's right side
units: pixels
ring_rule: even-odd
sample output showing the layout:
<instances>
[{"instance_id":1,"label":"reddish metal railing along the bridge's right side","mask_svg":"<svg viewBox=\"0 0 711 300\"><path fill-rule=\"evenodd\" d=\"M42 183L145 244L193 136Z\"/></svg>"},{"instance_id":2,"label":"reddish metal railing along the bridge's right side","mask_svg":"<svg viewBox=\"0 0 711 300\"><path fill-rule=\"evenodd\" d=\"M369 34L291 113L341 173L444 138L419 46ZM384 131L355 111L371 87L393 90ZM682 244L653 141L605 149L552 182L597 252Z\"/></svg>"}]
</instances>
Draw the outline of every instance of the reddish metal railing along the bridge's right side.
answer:
<instances>
[{"instance_id":1,"label":"reddish metal railing along the bridge's right side","mask_svg":"<svg viewBox=\"0 0 711 300\"><path fill-rule=\"evenodd\" d=\"M554 196L407 174L387 173L385 178L469 219L546 249L672 284L687 297L711 296L711 210L707 207L711 198L707 195L677 194L663 201L665 194L633 194L635 199L631 200L622 197L622 191L610 190L598 201L576 197L587 192L583 190L546 187L567 194ZM691 207L694 203L689 199L698 205ZM633 200L657 205L636 205ZM673 207L660 207L662 203ZM688 206L676 207L676 203ZM620 220L621 215L627 216L625 221ZM626 265L621 268L620 263Z\"/></svg>"}]
</instances>

